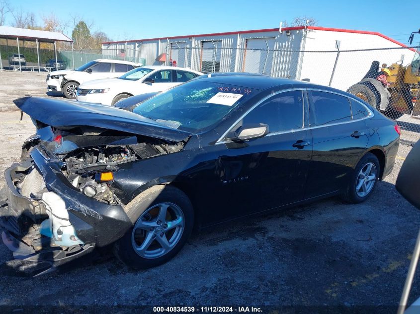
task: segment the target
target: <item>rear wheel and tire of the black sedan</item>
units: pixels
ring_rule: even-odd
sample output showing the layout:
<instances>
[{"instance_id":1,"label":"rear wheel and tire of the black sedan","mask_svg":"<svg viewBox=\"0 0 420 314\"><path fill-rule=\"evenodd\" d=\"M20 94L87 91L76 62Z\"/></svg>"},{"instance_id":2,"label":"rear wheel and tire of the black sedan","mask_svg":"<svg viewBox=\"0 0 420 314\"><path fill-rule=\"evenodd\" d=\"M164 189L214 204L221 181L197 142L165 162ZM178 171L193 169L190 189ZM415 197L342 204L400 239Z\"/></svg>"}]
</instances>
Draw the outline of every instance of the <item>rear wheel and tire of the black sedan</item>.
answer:
<instances>
[{"instance_id":1,"label":"rear wheel and tire of the black sedan","mask_svg":"<svg viewBox=\"0 0 420 314\"><path fill-rule=\"evenodd\" d=\"M363 173L368 173L367 167L369 166L371 167L370 169L375 171L375 173L370 173L366 177L363 175ZM364 155L362 159L360 159L360 161L357 163L356 168L350 176L350 181L343 195L344 200L354 204L365 201L376 187L380 171L381 169L378 158L372 153L367 153ZM361 183L361 181L364 181L364 184ZM358 189L359 185L361 188ZM365 188L367 188L364 194L363 185Z\"/></svg>"}]
</instances>

